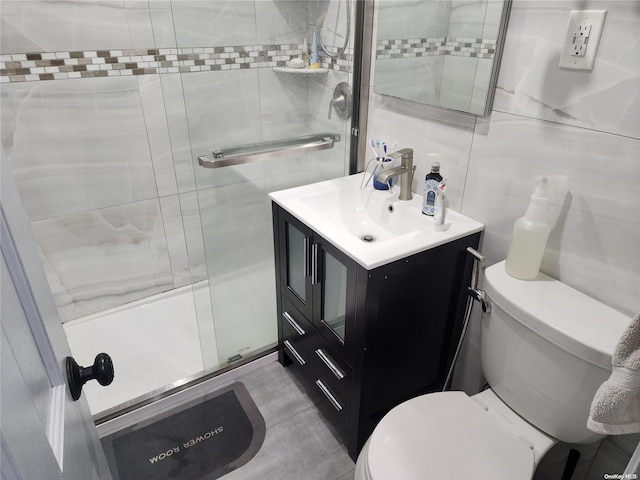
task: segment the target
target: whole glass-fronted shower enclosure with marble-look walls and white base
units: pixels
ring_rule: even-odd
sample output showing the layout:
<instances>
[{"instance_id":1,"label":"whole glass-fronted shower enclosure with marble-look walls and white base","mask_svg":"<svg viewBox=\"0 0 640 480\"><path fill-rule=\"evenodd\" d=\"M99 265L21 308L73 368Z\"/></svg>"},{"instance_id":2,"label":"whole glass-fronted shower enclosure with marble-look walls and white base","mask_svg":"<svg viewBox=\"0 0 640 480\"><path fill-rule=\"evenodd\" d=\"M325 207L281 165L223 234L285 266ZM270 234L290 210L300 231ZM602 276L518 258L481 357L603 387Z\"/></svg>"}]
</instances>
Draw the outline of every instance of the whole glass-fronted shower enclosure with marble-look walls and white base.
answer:
<instances>
[{"instance_id":1,"label":"whole glass-fronted shower enclosure with marble-look walls and white base","mask_svg":"<svg viewBox=\"0 0 640 480\"><path fill-rule=\"evenodd\" d=\"M3 0L2 161L74 357L113 359L96 418L274 347L268 193L349 173L347 1ZM321 68L287 68L314 31ZM310 134L333 147L198 163Z\"/></svg>"}]
</instances>

